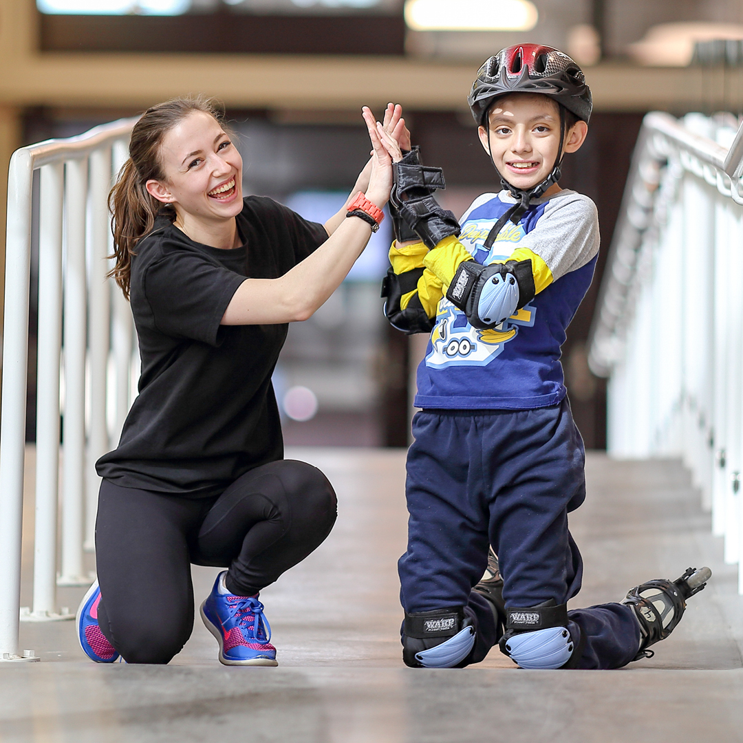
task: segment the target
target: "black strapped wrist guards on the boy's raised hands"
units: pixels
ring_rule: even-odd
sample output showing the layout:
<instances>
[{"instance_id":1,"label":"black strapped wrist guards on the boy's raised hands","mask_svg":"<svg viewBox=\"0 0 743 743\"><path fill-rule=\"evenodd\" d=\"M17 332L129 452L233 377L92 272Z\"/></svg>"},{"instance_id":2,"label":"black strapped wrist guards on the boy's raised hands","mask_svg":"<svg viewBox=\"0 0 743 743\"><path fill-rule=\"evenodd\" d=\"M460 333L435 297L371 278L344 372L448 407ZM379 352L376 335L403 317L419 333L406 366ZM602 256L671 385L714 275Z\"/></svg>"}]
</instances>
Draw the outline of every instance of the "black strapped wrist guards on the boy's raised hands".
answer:
<instances>
[{"instance_id":1,"label":"black strapped wrist guards on the boy's raised hands","mask_svg":"<svg viewBox=\"0 0 743 743\"><path fill-rule=\"evenodd\" d=\"M452 212L442 209L432 194L446 187L444 171L421 165L418 149L413 149L393 167L394 183L390 207L426 247L436 247L444 238L459 234L459 223Z\"/></svg>"}]
</instances>

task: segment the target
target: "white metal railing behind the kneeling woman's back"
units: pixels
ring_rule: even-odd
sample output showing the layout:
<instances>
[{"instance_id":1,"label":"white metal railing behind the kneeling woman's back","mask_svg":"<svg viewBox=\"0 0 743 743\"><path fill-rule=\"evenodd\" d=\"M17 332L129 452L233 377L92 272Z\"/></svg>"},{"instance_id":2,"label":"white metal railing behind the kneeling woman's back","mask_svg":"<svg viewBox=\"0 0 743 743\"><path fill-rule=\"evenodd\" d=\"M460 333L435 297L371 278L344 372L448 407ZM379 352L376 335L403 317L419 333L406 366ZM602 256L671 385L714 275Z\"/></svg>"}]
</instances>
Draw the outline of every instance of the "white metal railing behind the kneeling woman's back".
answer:
<instances>
[{"instance_id":1,"label":"white metal railing behind the kneeling woman's back","mask_svg":"<svg viewBox=\"0 0 743 743\"><path fill-rule=\"evenodd\" d=\"M129 305L106 280L106 199L132 120L23 147L10 160L0 409L0 661L19 655L33 172L39 170L39 330L33 606L27 620L70 618L57 585L85 585L93 548L96 459L118 438L132 396ZM62 450L60 452L60 418ZM60 457L61 453L61 457ZM61 492L59 472L61 464ZM57 513L61 501L61 549Z\"/></svg>"}]
</instances>

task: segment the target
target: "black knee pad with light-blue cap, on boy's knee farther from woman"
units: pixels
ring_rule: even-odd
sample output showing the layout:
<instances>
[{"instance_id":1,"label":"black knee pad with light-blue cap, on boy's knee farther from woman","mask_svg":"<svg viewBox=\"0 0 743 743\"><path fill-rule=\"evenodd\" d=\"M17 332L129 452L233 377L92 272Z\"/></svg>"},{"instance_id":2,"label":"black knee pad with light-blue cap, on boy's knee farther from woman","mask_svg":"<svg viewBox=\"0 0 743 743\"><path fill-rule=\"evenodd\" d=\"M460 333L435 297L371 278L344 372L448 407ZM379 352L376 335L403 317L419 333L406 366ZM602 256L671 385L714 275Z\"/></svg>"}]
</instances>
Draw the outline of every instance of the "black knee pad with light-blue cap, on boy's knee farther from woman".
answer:
<instances>
[{"instance_id":1,"label":"black knee pad with light-blue cap, on boy's knee farther from woman","mask_svg":"<svg viewBox=\"0 0 743 743\"><path fill-rule=\"evenodd\" d=\"M499 645L501 652L521 668L571 668L577 643L568 630L568 608L553 600L530 608L506 607L506 632ZM573 623L574 624L574 623ZM576 632L580 628L574 624Z\"/></svg>"}]
</instances>

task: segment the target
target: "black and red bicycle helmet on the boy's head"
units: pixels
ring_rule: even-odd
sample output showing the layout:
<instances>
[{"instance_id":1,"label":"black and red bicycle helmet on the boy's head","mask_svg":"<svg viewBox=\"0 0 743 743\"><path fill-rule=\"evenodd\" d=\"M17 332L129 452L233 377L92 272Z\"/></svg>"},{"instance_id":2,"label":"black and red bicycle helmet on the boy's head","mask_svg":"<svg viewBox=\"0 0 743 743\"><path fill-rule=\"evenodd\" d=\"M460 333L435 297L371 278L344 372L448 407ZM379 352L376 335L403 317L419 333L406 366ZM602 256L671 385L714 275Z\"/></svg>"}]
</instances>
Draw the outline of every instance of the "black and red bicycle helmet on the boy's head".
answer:
<instances>
[{"instance_id":1,"label":"black and red bicycle helmet on the boy's head","mask_svg":"<svg viewBox=\"0 0 743 743\"><path fill-rule=\"evenodd\" d=\"M567 54L540 44L506 47L482 65L467 103L478 124L497 97L509 93L541 93L588 123L593 102L583 70Z\"/></svg>"}]
</instances>

